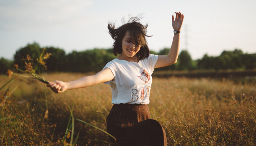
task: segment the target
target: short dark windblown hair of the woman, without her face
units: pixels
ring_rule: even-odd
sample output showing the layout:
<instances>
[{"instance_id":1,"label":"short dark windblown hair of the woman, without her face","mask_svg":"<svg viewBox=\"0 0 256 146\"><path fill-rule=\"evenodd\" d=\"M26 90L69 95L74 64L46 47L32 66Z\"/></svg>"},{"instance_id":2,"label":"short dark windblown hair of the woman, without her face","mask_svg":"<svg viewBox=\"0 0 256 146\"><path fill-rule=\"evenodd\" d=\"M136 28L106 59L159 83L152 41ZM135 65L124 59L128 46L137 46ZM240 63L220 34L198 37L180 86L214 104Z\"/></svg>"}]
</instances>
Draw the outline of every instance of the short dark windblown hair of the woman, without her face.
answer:
<instances>
[{"instance_id":1,"label":"short dark windblown hair of the woman, without her face","mask_svg":"<svg viewBox=\"0 0 256 146\"><path fill-rule=\"evenodd\" d=\"M128 20L127 23L124 22L123 19L123 25L115 29L115 24L108 22L108 29L109 29L109 34L111 37L114 39L113 43L113 53L115 56L117 54L122 53L122 40L126 34L126 32L129 32L131 35L131 39L133 44L135 45L140 45L140 50L138 53L136 53L136 58L139 58L139 60L148 58L149 56L149 49L148 49L148 44L146 37L152 37L149 35L146 35L147 33L147 26L140 23L140 19L138 16L137 17L129 17L130 19Z\"/></svg>"}]
</instances>

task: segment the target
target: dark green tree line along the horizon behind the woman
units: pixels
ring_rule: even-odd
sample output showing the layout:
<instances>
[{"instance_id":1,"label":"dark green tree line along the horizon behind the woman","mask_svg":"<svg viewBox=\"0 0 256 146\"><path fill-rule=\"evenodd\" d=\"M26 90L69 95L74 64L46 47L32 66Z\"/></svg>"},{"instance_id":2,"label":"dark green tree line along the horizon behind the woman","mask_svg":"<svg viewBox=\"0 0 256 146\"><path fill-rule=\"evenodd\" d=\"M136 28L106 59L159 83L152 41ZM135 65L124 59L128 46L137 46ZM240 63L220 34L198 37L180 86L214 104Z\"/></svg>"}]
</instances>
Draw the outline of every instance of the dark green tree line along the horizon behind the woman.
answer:
<instances>
[{"instance_id":1,"label":"dark green tree line along the horizon behind the woman","mask_svg":"<svg viewBox=\"0 0 256 146\"><path fill-rule=\"evenodd\" d=\"M5 74L8 69L13 68L17 64L19 68L25 66L22 61L30 54L33 59L34 66L38 66L37 58L39 58L42 50L38 43L27 44L25 47L18 49L14 55L14 60L5 58L0 59L0 73ZM151 54L167 55L169 48L164 48L158 53L150 51ZM50 58L46 62L47 72L98 72L111 60L116 58L113 55L112 48L109 49L93 49L85 51L72 51L66 54L63 49L56 47L46 47L46 52L51 53ZM234 51L223 51L221 55L214 57L205 54L202 59L192 60L187 50L182 50L179 54L176 64L157 68L156 70L196 70L196 69L256 69L256 53L247 54L242 50L234 49Z\"/></svg>"}]
</instances>

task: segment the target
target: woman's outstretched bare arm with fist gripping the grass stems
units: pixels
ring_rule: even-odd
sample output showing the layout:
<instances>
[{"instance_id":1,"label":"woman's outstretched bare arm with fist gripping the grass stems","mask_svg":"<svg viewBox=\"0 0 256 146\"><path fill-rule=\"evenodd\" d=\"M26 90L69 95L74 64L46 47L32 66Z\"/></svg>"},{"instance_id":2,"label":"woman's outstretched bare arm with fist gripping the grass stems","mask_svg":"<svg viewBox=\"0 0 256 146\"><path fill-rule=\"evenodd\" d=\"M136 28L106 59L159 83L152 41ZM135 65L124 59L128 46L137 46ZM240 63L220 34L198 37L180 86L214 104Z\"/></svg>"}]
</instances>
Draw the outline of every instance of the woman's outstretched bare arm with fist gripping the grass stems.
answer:
<instances>
[{"instance_id":1,"label":"woman's outstretched bare arm with fist gripping the grass stems","mask_svg":"<svg viewBox=\"0 0 256 146\"><path fill-rule=\"evenodd\" d=\"M101 82L107 82L114 79L114 75L109 68L105 68L93 76L87 76L80 78L78 80L63 82L63 81L53 81L47 84L55 93L62 93L70 89L78 89L89 87L92 85L99 84ZM60 90L61 89L61 90Z\"/></svg>"}]
</instances>

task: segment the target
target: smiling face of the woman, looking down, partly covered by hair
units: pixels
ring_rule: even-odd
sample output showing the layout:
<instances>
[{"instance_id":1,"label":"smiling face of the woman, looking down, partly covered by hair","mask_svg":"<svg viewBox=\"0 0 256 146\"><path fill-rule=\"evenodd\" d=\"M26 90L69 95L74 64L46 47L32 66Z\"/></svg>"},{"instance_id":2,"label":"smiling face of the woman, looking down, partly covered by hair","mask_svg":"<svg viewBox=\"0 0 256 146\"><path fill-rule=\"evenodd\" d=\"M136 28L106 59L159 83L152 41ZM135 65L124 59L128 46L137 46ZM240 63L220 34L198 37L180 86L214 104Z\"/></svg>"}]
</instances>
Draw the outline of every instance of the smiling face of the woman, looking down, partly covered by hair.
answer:
<instances>
[{"instance_id":1,"label":"smiling face of the woman, looking down, partly covered by hair","mask_svg":"<svg viewBox=\"0 0 256 146\"><path fill-rule=\"evenodd\" d=\"M127 31L122 40L122 57L127 59L135 59L135 54L140 50L140 45L135 45L132 43L130 33Z\"/></svg>"}]
</instances>

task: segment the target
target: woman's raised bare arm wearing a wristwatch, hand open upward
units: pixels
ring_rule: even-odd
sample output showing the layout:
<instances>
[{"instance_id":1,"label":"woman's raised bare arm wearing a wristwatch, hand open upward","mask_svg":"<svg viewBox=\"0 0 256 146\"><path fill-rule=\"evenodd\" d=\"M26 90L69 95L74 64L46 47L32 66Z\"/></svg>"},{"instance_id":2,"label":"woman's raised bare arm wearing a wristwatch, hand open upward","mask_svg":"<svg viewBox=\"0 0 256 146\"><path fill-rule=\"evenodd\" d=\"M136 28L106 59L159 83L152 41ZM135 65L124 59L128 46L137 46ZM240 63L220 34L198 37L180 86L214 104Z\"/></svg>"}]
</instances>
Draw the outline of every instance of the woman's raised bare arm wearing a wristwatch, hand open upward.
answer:
<instances>
[{"instance_id":1,"label":"woman's raised bare arm wearing a wristwatch, hand open upward","mask_svg":"<svg viewBox=\"0 0 256 146\"><path fill-rule=\"evenodd\" d=\"M176 14L175 20L174 20L174 16L172 16L172 26L174 30L180 31L182 22L184 20L184 15L181 14L181 12L175 12L175 14ZM155 68L161 68L164 66L175 64L178 59L179 47L180 47L180 33L176 33L173 36L173 42L172 42L172 46L169 51L169 54L166 56L159 55Z\"/></svg>"}]
</instances>

